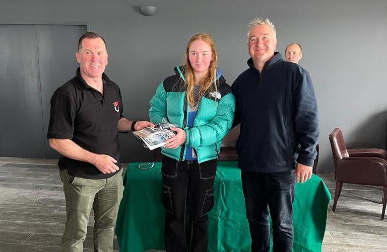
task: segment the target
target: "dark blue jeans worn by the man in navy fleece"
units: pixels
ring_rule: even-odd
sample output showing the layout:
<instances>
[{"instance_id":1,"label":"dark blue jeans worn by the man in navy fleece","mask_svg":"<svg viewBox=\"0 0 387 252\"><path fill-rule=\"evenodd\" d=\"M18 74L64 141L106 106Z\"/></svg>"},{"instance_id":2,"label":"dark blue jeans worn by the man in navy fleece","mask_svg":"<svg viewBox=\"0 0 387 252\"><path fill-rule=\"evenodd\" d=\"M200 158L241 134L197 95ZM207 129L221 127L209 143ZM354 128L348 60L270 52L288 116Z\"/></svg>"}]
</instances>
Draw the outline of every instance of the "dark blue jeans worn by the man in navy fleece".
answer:
<instances>
[{"instance_id":1,"label":"dark blue jeans worn by the man in navy fleece","mask_svg":"<svg viewBox=\"0 0 387 252\"><path fill-rule=\"evenodd\" d=\"M293 171L281 173L241 172L251 251L270 250L269 211L273 225L273 252L292 251Z\"/></svg>"}]
</instances>

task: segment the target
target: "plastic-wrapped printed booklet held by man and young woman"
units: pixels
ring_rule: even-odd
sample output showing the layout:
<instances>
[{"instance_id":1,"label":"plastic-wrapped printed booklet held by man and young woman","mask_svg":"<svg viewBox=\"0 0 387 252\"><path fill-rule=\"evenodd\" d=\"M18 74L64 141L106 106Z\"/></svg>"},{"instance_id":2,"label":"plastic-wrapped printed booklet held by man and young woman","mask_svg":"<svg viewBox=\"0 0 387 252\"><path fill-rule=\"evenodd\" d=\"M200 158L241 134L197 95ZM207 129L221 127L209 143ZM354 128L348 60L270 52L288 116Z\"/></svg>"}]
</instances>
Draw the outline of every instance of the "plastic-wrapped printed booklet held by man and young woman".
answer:
<instances>
[{"instance_id":1,"label":"plastic-wrapped printed booklet held by man and young woman","mask_svg":"<svg viewBox=\"0 0 387 252\"><path fill-rule=\"evenodd\" d=\"M176 134L170 130L170 127L178 127L177 124L169 123L166 118L163 118L161 123L156 124L154 127L147 127L139 131L134 131L133 134L140 138L146 147L150 150L164 146L165 141Z\"/></svg>"}]
</instances>

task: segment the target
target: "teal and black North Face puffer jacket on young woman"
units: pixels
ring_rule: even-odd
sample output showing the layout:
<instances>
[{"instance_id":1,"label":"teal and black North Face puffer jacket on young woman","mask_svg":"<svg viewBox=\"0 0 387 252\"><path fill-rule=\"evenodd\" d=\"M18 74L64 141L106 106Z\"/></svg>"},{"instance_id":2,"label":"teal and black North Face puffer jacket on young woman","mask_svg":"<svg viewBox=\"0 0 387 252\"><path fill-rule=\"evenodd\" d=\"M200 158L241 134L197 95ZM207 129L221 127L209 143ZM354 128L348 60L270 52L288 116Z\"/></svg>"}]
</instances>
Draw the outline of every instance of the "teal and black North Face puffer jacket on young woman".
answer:
<instances>
[{"instance_id":1,"label":"teal and black North Face puffer jacket on young woman","mask_svg":"<svg viewBox=\"0 0 387 252\"><path fill-rule=\"evenodd\" d=\"M176 74L160 83L156 94L149 102L149 118L152 123L160 123L164 117L179 128L184 129L187 139L176 149L161 148L161 153L183 161L186 146L196 150L198 162L218 158L223 137L228 133L234 120L235 98L231 87L218 69L217 92L207 91L202 97L193 127L187 127L188 102L182 67L174 68Z\"/></svg>"}]
</instances>

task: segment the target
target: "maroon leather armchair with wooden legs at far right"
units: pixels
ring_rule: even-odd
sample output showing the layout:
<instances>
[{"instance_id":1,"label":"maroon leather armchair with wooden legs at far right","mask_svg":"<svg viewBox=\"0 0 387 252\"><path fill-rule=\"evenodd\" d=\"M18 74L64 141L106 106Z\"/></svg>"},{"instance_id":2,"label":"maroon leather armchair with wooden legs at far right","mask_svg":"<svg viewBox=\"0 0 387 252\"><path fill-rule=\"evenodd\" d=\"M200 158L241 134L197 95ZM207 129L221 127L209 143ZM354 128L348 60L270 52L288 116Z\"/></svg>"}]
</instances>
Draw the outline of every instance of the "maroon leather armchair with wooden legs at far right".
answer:
<instances>
[{"instance_id":1,"label":"maroon leather armchair with wooden legs at far right","mask_svg":"<svg viewBox=\"0 0 387 252\"><path fill-rule=\"evenodd\" d=\"M336 191L332 211L335 211L343 183L382 186L382 211L384 219L387 203L387 152L382 149L347 149L341 129L329 135L335 160Z\"/></svg>"}]
</instances>

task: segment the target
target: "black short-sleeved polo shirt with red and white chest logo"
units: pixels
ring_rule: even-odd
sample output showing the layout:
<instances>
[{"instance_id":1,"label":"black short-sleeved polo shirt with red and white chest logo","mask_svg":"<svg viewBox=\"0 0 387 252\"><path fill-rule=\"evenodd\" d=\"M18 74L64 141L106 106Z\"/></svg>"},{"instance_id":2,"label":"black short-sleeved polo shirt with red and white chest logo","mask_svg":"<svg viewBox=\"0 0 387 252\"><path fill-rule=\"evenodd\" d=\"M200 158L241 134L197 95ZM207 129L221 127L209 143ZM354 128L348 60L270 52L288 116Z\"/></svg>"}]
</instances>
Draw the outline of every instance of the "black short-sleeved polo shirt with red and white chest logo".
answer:
<instances>
[{"instance_id":1,"label":"black short-sleeved polo shirt with red and white chest logo","mask_svg":"<svg viewBox=\"0 0 387 252\"><path fill-rule=\"evenodd\" d=\"M71 139L88 151L118 161L118 120L123 117L121 92L104 73L102 80L103 96L86 83L78 68L77 75L54 92L47 138ZM65 156L60 157L58 166L87 179L106 179L116 174L102 174L91 163Z\"/></svg>"}]
</instances>

